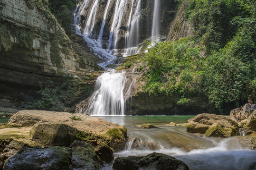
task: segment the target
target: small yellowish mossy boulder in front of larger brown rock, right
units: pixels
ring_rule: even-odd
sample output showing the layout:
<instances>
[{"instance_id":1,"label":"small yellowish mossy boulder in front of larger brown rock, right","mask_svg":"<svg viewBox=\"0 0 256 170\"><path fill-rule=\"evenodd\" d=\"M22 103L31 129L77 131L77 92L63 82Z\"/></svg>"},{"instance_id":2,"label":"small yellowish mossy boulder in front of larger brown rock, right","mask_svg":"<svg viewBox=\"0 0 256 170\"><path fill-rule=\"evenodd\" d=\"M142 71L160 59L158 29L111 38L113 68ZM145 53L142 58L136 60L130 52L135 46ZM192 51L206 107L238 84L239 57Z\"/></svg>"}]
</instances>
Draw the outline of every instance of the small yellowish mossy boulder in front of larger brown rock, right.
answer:
<instances>
[{"instance_id":1,"label":"small yellowish mossy boulder in front of larger brown rock, right","mask_svg":"<svg viewBox=\"0 0 256 170\"><path fill-rule=\"evenodd\" d=\"M234 132L231 128L223 127L219 124L214 123L205 132L206 137L217 136L217 137L231 137L234 136Z\"/></svg>"}]
</instances>

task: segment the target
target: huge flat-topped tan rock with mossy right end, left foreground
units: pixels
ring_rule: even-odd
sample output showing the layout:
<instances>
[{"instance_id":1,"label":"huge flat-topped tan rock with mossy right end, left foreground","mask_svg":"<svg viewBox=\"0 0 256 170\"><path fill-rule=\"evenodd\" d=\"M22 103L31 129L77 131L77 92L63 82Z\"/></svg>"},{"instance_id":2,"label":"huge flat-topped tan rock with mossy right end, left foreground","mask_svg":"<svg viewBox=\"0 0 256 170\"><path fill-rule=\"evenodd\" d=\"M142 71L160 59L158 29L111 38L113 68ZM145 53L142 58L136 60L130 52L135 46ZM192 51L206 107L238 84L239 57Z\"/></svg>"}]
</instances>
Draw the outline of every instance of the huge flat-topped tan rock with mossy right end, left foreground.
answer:
<instances>
[{"instance_id":1,"label":"huge flat-topped tan rock with mossy right end, left foreground","mask_svg":"<svg viewBox=\"0 0 256 170\"><path fill-rule=\"evenodd\" d=\"M81 120L71 119L72 117ZM69 146L74 140L92 144L104 161L113 160L113 151L125 147L127 129L104 119L67 112L22 110L13 115L8 127L32 127L31 138L45 146Z\"/></svg>"}]
</instances>

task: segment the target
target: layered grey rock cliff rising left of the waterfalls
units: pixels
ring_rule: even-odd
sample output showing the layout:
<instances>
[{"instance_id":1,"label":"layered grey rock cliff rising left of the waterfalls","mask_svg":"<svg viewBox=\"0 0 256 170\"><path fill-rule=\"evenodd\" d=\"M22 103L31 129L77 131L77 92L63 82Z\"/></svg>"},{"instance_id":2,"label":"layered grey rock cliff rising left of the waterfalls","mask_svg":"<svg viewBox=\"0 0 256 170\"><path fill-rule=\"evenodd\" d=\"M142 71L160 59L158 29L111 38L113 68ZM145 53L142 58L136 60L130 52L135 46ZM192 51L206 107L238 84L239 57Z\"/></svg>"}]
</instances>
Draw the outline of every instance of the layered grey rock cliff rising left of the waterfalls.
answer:
<instances>
[{"instance_id":1,"label":"layered grey rock cliff rising left of the waterfalls","mask_svg":"<svg viewBox=\"0 0 256 170\"><path fill-rule=\"evenodd\" d=\"M0 107L33 98L49 80L61 84L70 71L101 70L81 37L72 40L44 0L0 0Z\"/></svg>"}]
</instances>

